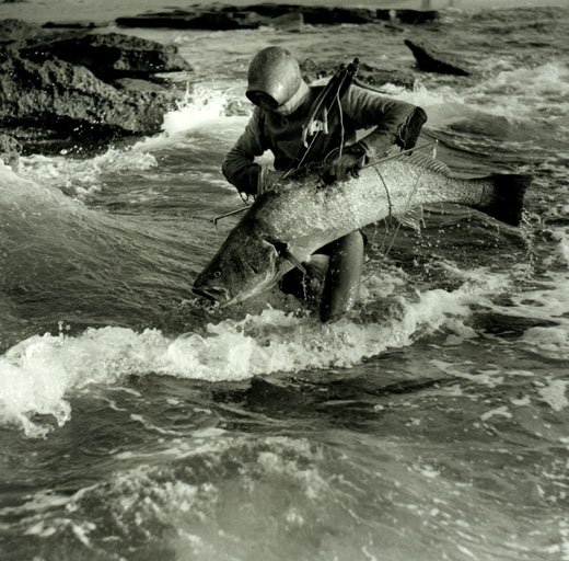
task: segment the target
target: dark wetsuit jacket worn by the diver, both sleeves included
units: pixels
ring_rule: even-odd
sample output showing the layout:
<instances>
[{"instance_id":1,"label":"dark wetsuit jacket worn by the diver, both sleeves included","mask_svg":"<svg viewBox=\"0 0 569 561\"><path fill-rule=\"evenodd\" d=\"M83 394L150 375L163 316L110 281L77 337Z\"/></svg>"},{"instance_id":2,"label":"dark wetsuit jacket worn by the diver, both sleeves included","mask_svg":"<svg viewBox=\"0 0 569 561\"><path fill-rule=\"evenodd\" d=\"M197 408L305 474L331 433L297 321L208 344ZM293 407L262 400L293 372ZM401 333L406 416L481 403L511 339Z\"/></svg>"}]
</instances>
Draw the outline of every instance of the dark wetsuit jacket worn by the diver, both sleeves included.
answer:
<instances>
[{"instance_id":1,"label":"dark wetsuit jacket worn by the diver, both sleeves included","mask_svg":"<svg viewBox=\"0 0 569 561\"><path fill-rule=\"evenodd\" d=\"M253 115L235 146L228 152L222 165L227 180L240 192L256 192L260 165L254 163L266 150L275 154L275 169L288 170L302 156L302 129L312 103L323 87L312 87L301 106L291 115L255 107ZM341 111L328 119L328 134L321 134L304 163L322 161L340 145L356 141L356 131L374 129L358 142L368 158L381 154L394 144L402 148L415 146L425 112L411 105L382 96L370 90L350 85L341 100Z\"/></svg>"}]
</instances>

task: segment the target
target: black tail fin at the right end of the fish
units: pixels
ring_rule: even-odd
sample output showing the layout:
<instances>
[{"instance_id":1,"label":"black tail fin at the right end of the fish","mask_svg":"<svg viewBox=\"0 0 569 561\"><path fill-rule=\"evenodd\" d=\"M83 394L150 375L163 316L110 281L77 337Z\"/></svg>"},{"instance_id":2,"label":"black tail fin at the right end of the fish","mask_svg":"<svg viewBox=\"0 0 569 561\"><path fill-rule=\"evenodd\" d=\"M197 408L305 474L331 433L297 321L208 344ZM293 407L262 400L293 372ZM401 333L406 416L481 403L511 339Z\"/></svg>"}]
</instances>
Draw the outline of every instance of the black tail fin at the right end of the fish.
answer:
<instances>
[{"instance_id":1,"label":"black tail fin at the right end of the fish","mask_svg":"<svg viewBox=\"0 0 569 561\"><path fill-rule=\"evenodd\" d=\"M477 181L490 182L493 199L490 204L476 207L478 210L511 226L520 226L525 190L532 183L531 175L493 174Z\"/></svg>"}]
</instances>

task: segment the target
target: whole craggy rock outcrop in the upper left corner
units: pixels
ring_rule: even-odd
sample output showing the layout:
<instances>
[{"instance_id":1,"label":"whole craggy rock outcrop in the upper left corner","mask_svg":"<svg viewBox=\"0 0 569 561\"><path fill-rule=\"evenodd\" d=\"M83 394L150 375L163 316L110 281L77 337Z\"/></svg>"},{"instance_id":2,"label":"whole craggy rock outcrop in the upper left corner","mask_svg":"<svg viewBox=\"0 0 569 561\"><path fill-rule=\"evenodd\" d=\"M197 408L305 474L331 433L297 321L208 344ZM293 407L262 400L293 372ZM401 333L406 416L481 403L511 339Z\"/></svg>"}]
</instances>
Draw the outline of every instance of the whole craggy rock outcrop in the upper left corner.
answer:
<instances>
[{"instance_id":1,"label":"whole craggy rock outcrop in the upper left corner","mask_svg":"<svg viewBox=\"0 0 569 561\"><path fill-rule=\"evenodd\" d=\"M12 147L10 153L19 145L24 153L91 150L118 137L155 134L179 95L156 73L179 70L190 66L173 46L4 20L2 146Z\"/></svg>"}]
</instances>

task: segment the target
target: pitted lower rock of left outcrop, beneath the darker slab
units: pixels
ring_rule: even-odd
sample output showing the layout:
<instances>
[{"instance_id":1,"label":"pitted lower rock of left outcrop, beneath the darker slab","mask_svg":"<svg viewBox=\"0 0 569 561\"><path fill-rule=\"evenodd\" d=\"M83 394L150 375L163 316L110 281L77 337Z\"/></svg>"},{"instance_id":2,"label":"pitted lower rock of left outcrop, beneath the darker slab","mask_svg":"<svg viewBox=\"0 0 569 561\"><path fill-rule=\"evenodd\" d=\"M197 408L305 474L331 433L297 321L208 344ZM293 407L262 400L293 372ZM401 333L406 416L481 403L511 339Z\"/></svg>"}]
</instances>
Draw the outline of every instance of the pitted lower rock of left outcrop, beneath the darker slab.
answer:
<instances>
[{"instance_id":1,"label":"pitted lower rock of left outcrop, beneath the darker slab","mask_svg":"<svg viewBox=\"0 0 569 561\"><path fill-rule=\"evenodd\" d=\"M171 92L119 91L84 67L57 58L34 61L8 48L0 49L0 131L27 151L152 135L173 105Z\"/></svg>"}]
</instances>

